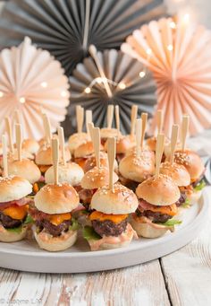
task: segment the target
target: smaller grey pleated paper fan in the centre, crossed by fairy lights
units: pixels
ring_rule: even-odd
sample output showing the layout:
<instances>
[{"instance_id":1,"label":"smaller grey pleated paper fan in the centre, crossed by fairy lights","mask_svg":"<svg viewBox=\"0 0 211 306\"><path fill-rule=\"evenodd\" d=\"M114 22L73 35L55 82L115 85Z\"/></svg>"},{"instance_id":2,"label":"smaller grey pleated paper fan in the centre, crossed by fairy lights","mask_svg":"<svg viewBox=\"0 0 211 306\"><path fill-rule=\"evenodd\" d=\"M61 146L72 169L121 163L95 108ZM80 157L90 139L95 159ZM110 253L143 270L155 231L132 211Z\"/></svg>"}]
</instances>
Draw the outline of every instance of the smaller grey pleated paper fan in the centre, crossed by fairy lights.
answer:
<instances>
[{"instance_id":1,"label":"smaller grey pleated paper fan in the centre, crossed by fairy lights","mask_svg":"<svg viewBox=\"0 0 211 306\"><path fill-rule=\"evenodd\" d=\"M117 104L122 132L128 133L132 104L138 104L139 114L142 111L152 114L154 111L156 85L152 75L139 61L115 49L97 52L94 57L98 59L98 66L97 59L87 57L70 77L72 95L65 131L75 129L72 118L75 118L76 104L92 109L93 122L97 127L106 124L107 105Z\"/></svg>"}]
</instances>

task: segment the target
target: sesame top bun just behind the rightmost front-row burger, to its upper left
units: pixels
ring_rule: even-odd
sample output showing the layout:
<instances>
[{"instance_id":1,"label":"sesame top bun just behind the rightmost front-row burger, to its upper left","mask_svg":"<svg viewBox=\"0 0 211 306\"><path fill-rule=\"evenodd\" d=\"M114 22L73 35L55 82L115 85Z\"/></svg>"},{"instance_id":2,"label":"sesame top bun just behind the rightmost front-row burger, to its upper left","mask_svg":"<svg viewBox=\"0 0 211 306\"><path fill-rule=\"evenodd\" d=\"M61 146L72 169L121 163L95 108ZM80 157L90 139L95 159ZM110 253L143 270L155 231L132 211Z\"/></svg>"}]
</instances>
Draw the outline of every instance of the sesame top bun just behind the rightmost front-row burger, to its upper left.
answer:
<instances>
[{"instance_id":1,"label":"sesame top bun just behind the rightmost front-row burger, to its upper left","mask_svg":"<svg viewBox=\"0 0 211 306\"><path fill-rule=\"evenodd\" d=\"M140 156L134 153L125 156L119 164L119 171L125 179L142 182L155 173L155 153L142 151Z\"/></svg>"}]
</instances>

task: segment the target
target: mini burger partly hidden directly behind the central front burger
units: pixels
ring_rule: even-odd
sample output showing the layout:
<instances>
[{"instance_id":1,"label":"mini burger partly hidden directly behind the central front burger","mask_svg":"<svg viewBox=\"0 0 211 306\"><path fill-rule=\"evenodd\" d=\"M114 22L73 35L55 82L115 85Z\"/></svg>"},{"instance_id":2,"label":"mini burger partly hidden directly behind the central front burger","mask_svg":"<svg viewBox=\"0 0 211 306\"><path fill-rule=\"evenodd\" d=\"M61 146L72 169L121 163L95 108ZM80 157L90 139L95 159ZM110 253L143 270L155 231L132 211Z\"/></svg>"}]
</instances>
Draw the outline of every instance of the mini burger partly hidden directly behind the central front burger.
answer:
<instances>
[{"instance_id":1,"label":"mini burger partly hidden directly behind the central front burger","mask_svg":"<svg viewBox=\"0 0 211 306\"><path fill-rule=\"evenodd\" d=\"M114 172L114 182L118 180L118 176ZM109 183L109 170L106 167L94 167L85 173L81 179L80 185L75 186L80 196L80 203L89 209L91 199L97 188L101 188Z\"/></svg>"}]
</instances>

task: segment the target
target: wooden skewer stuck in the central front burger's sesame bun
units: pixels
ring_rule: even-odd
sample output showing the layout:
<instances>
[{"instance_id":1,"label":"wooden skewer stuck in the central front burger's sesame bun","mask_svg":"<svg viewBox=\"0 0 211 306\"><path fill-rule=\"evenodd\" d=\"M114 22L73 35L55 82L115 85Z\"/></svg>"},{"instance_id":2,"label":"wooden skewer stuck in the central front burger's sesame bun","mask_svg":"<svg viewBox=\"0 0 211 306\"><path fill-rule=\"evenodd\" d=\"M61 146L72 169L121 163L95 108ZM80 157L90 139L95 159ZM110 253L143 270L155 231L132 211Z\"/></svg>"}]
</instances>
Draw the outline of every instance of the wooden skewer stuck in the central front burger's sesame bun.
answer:
<instances>
[{"instance_id":1,"label":"wooden skewer stuck in the central front burger's sesame bun","mask_svg":"<svg viewBox=\"0 0 211 306\"><path fill-rule=\"evenodd\" d=\"M109 189L114 191L114 159L115 159L116 140L114 137L108 138L107 157L109 166Z\"/></svg>"}]
</instances>

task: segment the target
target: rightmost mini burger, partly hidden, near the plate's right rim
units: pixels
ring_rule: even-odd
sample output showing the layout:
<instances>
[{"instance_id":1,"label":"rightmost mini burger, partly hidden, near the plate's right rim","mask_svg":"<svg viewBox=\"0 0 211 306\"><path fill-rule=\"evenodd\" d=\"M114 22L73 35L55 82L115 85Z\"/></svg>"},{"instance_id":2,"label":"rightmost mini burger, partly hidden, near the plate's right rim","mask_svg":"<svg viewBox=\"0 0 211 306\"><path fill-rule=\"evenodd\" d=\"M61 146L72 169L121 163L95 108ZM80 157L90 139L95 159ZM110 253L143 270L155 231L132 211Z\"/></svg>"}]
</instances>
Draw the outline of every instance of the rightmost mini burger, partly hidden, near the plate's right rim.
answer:
<instances>
[{"instance_id":1,"label":"rightmost mini burger, partly hidden, near the plate's right rim","mask_svg":"<svg viewBox=\"0 0 211 306\"><path fill-rule=\"evenodd\" d=\"M174 162L183 165L190 173L190 185L184 186L182 192L190 199L190 204L198 201L201 190L206 186L204 180L205 166L197 153L191 150L177 151Z\"/></svg>"}]
</instances>

